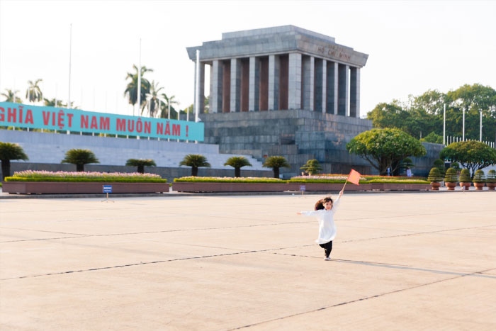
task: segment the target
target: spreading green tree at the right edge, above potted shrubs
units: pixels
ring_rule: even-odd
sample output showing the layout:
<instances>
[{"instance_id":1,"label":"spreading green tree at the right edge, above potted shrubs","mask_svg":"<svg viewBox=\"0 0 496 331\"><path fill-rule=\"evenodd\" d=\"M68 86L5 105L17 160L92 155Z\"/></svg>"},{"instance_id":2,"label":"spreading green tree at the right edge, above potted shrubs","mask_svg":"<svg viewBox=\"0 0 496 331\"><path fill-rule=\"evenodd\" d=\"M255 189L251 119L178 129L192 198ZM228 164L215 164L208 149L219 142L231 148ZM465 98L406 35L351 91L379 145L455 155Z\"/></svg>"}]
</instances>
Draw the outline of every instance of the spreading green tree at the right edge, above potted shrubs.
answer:
<instances>
[{"instance_id":1,"label":"spreading green tree at the right edge, above potted shrubs","mask_svg":"<svg viewBox=\"0 0 496 331\"><path fill-rule=\"evenodd\" d=\"M470 170L470 176L478 169L496 164L496 150L478 141L453 142L441 150L439 157L460 163Z\"/></svg>"}]
</instances>

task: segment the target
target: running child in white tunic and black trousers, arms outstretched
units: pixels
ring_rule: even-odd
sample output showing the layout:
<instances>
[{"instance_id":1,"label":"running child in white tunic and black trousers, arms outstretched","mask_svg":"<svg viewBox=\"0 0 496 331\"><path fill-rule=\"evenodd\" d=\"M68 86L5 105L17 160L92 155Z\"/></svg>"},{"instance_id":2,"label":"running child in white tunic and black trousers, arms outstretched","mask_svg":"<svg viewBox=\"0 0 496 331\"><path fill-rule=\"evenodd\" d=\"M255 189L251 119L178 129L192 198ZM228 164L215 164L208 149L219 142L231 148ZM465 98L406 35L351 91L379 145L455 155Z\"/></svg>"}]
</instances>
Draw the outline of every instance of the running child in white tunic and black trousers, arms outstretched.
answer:
<instances>
[{"instance_id":1,"label":"running child in white tunic and black trousers, arms outstretched","mask_svg":"<svg viewBox=\"0 0 496 331\"><path fill-rule=\"evenodd\" d=\"M315 242L325 250L325 260L330 261L329 255L332 251L332 240L336 237L336 225L334 224L334 213L339 206L339 200L343 191L339 192L336 202L332 201L330 196L323 198L315 203L315 211L301 211L297 213L303 216L315 216L319 220L319 237Z\"/></svg>"}]
</instances>

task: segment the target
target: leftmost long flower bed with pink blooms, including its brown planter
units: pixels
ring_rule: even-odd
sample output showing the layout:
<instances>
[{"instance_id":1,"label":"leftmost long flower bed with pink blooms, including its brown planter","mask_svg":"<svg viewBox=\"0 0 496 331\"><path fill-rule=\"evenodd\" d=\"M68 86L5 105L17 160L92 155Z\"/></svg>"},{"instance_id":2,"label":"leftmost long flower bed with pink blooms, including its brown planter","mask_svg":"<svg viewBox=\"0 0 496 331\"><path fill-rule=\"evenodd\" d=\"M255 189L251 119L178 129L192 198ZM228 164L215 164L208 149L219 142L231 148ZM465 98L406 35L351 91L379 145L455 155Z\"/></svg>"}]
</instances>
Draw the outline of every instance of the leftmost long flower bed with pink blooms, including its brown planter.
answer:
<instances>
[{"instance_id":1,"label":"leftmost long flower bed with pink blooms, including its brown planter","mask_svg":"<svg viewBox=\"0 0 496 331\"><path fill-rule=\"evenodd\" d=\"M6 177L6 193L103 193L111 185L112 193L168 192L167 179L157 174L102 172L16 172Z\"/></svg>"}]
</instances>

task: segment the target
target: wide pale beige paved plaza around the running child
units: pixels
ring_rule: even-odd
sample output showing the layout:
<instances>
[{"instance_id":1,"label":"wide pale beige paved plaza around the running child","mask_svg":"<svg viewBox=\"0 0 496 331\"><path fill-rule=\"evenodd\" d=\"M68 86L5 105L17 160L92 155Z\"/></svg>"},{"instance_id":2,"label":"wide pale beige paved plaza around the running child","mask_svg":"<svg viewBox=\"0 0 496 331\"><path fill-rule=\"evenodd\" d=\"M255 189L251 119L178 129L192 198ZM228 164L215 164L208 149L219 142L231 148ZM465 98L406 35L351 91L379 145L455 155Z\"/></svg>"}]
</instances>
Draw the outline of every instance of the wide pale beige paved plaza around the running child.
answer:
<instances>
[{"instance_id":1,"label":"wide pale beige paved plaza around the running child","mask_svg":"<svg viewBox=\"0 0 496 331\"><path fill-rule=\"evenodd\" d=\"M496 330L496 193L0 200L0 330Z\"/></svg>"}]
</instances>

